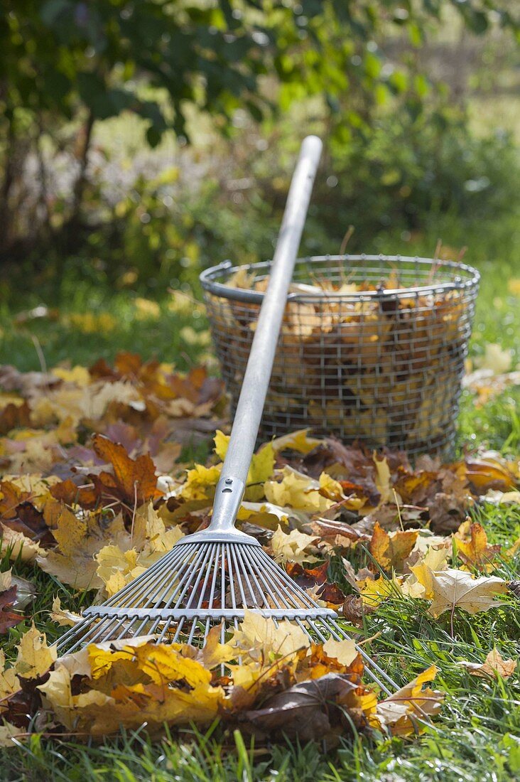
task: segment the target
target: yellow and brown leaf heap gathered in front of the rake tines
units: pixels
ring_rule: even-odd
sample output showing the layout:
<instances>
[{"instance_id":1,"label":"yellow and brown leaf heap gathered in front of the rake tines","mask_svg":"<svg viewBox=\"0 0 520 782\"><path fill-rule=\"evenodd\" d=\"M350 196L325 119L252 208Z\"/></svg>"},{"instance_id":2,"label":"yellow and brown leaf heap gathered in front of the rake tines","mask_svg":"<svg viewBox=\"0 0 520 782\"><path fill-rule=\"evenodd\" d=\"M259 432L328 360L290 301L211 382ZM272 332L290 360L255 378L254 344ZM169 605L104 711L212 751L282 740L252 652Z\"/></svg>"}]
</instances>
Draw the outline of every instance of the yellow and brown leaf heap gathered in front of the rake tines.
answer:
<instances>
[{"instance_id":1,"label":"yellow and brown leaf heap gathered in front of the rake tines","mask_svg":"<svg viewBox=\"0 0 520 782\"><path fill-rule=\"evenodd\" d=\"M156 735L164 723L208 725L220 716L260 740L283 731L330 742L353 727L411 734L443 701L442 693L423 689L435 667L378 701L361 680L364 666L353 641L311 644L298 626L275 626L254 612L226 644L219 637L213 628L202 650L142 637L90 644L56 658L56 647L33 627L23 635L13 667L0 675L10 719L0 738L9 744L23 736L27 715L36 713L32 730L51 734L65 727L104 737L145 723Z\"/></svg>"}]
</instances>

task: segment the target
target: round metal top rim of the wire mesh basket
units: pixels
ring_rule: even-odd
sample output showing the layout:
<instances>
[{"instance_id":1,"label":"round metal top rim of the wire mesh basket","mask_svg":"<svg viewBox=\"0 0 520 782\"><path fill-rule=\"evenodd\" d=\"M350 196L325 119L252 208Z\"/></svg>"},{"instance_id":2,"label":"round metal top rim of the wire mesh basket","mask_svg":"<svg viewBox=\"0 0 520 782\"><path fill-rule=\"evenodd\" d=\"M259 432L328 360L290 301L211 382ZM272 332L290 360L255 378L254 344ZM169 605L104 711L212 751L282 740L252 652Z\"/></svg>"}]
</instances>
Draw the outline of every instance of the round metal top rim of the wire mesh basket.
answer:
<instances>
[{"instance_id":1,"label":"round metal top rim of the wire mesh basket","mask_svg":"<svg viewBox=\"0 0 520 782\"><path fill-rule=\"evenodd\" d=\"M320 294L313 294L309 292L293 292L289 293L287 300L291 302L312 303L321 301L324 299L335 301L363 301L372 299L388 299L388 298L406 298L410 296L418 295L431 295L431 294L443 294L448 292L462 292L466 290L477 289L480 282L480 273L475 267L468 264L462 264L460 261L454 260L438 260L435 258L425 258L421 256L403 256L403 255L385 255L380 253L378 255L368 255L361 253L359 255L351 255L346 253L345 255L317 255L317 256L302 256L296 260L296 264L299 263L324 263L328 260L333 261L383 261L392 262L395 264L414 263L419 266L429 266L436 264L437 268L450 269L451 271L458 272L464 276L458 276L455 274L454 280L450 282L428 283L427 285L414 285L407 288L394 288L394 289L381 289L375 291L362 291L356 293L332 293L323 292ZM245 303L262 303L264 300L264 292L252 291L243 288L233 288L231 285L226 285L223 282L217 282L218 278L223 274L230 274L241 269L246 271L253 270L268 270L271 267L272 260L261 260L255 264L238 264L234 266L231 260L224 260L221 264L211 266L199 274L199 281L203 289L212 294L213 296L219 296L224 299L231 299L234 301L241 301Z\"/></svg>"}]
</instances>

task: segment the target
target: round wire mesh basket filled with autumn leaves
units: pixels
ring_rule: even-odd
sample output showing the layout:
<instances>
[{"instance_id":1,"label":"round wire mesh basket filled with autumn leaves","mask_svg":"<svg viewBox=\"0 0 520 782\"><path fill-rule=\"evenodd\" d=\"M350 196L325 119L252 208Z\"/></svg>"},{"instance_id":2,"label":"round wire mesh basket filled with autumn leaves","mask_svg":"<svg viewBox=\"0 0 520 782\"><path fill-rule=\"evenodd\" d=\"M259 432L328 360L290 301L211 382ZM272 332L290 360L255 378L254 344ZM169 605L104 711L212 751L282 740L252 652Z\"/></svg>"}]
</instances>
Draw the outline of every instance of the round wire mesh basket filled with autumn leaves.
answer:
<instances>
[{"instance_id":1,"label":"round wire mesh basket filled with autumn leaves","mask_svg":"<svg viewBox=\"0 0 520 782\"><path fill-rule=\"evenodd\" d=\"M235 407L270 261L200 275ZM344 442L449 454L479 272L403 256L296 262L260 434L310 427Z\"/></svg>"}]
</instances>

